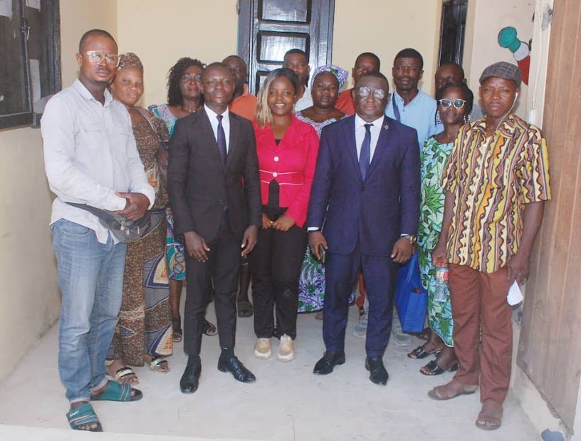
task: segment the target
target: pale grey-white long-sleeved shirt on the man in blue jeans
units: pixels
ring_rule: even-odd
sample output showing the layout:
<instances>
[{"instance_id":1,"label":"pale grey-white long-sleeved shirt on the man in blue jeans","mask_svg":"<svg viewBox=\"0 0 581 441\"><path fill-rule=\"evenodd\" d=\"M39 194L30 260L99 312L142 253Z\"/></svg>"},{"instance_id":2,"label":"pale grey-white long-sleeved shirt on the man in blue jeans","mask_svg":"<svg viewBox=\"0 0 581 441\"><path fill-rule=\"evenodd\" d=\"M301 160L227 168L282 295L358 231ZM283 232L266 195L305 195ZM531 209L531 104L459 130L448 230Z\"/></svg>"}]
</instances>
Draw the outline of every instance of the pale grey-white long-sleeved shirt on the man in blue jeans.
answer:
<instances>
[{"instance_id":1,"label":"pale grey-white long-sleeved shirt on the man in blue jeans","mask_svg":"<svg viewBox=\"0 0 581 441\"><path fill-rule=\"evenodd\" d=\"M125 208L127 199L115 192L136 192L145 194L152 207L155 191L137 152L131 117L108 90L101 104L75 80L46 104L41 133L48 185L57 196L51 225L67 219L93 229L105 244L109 230L99 218L66 202L117 211Z\"/></svg>"}]
</instances>

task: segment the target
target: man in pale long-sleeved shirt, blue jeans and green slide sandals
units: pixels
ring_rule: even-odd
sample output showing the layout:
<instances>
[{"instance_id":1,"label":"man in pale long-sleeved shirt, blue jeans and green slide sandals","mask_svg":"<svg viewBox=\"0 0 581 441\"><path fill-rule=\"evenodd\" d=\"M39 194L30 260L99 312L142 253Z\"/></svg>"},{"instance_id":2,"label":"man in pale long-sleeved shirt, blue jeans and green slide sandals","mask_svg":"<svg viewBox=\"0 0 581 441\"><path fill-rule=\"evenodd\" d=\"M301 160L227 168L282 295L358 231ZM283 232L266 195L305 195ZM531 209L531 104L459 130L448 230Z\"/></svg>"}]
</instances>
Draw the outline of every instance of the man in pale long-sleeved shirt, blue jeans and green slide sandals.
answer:
<instances>
[{"instance_id":1,"label":"man in pale long-sleeved shirt, blue jeans and green slide sandals","mask_svg":"<svg viewBox=\"0 0 581 441\"><path fill-rule=\"evenodd\" d=\"M133 401L130 385L105 378L105 356L122 300L125 244L98 217L66 202L144 216L155 192L147 183L131 119L107 85L119 57L106 31L80 39L79 78L48 101L41 122L46 176L56 194L51 227L62 293L58 371L75 430L102 431L89 400Z\"/></svg>"}]
</instances>

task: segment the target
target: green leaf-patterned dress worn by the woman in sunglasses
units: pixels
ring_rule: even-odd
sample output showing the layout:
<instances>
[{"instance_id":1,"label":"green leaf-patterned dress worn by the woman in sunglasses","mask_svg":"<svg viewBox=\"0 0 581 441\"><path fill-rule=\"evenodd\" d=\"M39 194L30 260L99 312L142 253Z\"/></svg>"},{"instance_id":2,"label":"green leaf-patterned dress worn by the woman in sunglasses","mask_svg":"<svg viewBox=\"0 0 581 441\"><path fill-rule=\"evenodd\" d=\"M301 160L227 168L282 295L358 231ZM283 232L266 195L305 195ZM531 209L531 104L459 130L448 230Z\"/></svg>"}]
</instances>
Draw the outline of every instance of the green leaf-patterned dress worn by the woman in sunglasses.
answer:
<instances>
[{"instance_id":1,"label":"green leaf-patterned dress worn by the woman in sunglasses","mask_svg":"<svg viewBox=\"0 0 581 441\"><path fill-rule=\"evenodd\" d=\"M446 346L454 346L450 293L446 301L434 299L436 269L431 264L431 251L436 247L444 217L444 190L441 175L454 142L440 144L434 137L426 140L422 150L422 204L419 213L419 271L422 285L428 291L428 323Z\"/></svg>"}]
</instances>

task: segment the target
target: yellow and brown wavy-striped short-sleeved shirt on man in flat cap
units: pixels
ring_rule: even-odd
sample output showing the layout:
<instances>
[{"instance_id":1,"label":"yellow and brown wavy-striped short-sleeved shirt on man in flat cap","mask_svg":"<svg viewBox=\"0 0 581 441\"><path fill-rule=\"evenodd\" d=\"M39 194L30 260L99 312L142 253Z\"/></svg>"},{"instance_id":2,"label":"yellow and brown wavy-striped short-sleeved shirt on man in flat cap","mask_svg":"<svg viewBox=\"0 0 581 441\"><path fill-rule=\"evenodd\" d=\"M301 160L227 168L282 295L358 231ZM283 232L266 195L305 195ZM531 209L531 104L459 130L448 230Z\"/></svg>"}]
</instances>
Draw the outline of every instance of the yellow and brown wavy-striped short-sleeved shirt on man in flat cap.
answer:
<instances>
[{"instance_id":1,"label":"yellow and brown wavy-striped short-sleeved shirt on man in flat cap","mask_svg":"<svg viewBox=\"0 0 581 441\"><path fill-rule=\"evenodd\" d=\"M523 234L525 204L550 199L543 134L509 115L486 138L482 118L460 129L442 175L454 193L448 259L491 273L505 266Z\"/></svg>"}]
</instances>

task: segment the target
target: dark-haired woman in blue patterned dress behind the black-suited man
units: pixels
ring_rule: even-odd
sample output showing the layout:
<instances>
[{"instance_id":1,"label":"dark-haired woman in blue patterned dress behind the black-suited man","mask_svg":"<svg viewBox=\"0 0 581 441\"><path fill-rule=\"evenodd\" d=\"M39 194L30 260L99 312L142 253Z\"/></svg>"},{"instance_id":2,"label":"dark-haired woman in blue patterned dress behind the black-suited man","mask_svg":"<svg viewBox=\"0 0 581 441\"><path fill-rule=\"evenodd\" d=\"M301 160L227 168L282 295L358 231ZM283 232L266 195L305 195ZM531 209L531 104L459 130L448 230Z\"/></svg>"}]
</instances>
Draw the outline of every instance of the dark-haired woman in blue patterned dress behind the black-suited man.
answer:
<instances>
[{"instance_id":1,"label":"dark-haired woman in blue patterned dress behind the black-suited man","mask_svg":"<svg viewBox=\"0 0 581 441\"><path fill-rule=\"evenodd\" d=\"M169 137L174 133L174 125L179 118L184 118L196 112L204 104L201 95L201 74L204 64L195 58L179 58L169 69L167 75L167 104L150 105L149 110L167 125ZM167 207L167 264L169 267L169 304L172 306L172 323L174 341L182 341L182 317L179 315L179 301L182 296L182 284L186 278L186 262L184 247L174 238L174 217ZM204 333L215 336L216 326L206 320Z\"/></svg>"}]
</instances>

